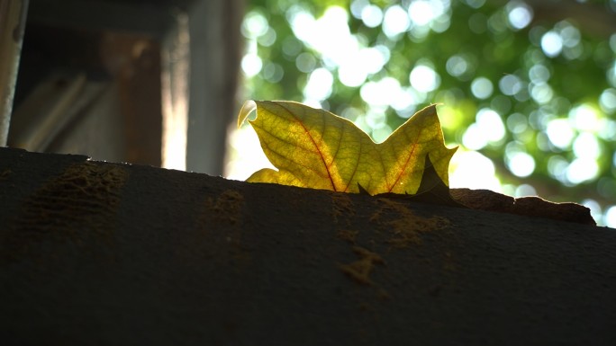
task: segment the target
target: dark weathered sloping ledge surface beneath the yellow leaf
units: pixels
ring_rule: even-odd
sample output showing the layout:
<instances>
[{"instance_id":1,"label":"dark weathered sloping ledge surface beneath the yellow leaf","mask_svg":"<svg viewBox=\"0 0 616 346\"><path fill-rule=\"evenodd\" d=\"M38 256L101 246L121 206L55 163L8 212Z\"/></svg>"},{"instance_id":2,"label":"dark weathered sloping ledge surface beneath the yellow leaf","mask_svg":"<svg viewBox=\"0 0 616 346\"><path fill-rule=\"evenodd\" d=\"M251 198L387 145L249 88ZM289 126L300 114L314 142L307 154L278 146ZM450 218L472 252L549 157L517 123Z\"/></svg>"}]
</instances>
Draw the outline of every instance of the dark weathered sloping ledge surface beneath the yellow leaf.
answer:
<instances>
[{"instance_id":1,"label":"dark weathered sloping ledge surface beneath the yellow leaf","mask_svg":"<svg viewBox=\"0 0 616 346\"><path fill-rule=\"evenodd\" d=\"M3 344L616 341L613 229L0 149Z\"/></svg>"}]
</instances>

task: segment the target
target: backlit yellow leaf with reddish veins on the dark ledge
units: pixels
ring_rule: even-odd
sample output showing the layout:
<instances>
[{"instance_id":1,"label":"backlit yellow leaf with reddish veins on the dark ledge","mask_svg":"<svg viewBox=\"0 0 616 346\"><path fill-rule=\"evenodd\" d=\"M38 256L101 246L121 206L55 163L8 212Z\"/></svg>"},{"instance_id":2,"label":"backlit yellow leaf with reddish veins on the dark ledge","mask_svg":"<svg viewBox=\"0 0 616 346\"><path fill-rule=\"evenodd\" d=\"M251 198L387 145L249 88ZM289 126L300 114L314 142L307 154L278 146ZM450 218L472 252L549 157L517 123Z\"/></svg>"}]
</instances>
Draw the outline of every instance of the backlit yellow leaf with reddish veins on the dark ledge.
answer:
<instances>
[{"instance_id":1,"label":"backlit yellow leaf with reddish veins on the dark ledge","mask_svg":"<svg viewBox=\"0 0 616 346\"><path fill-rule=\"evenodd\" d=\"M313 189L368 193L417 192L426 163L445 185L457 148L443 142L436 105L415 113L376 144L352 122L298 102L249 101L238 126L249 120L263 151L278 171L262 169L248 182L275 182ZM427 160L428 155L429 160Z\"/></svg>"}]
</instances>

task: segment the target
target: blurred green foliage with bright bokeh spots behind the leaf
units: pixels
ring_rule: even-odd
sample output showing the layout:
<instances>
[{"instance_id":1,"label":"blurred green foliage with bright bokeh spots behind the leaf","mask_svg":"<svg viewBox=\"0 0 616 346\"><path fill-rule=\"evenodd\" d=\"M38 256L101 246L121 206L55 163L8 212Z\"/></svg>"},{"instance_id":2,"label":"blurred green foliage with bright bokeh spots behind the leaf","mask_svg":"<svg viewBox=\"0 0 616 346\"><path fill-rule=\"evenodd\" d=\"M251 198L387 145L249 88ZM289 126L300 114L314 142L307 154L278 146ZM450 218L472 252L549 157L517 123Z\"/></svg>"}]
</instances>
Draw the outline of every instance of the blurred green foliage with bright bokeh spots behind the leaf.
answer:
<instances>
[{"instance_id":1,"label":"blurred green foliage with bright bokeh spots behind the leaf","mask_svg":"<svg viewBox=\"0 0 616 346\"><path fill-rule=\"evenodd\" d=\"M377 141L442 102L449 143L503 191L616 222L616 1L250 0L246 98L294 100ZM609 215L608 215L609 214Z\"/></svg>"}]
</instances>

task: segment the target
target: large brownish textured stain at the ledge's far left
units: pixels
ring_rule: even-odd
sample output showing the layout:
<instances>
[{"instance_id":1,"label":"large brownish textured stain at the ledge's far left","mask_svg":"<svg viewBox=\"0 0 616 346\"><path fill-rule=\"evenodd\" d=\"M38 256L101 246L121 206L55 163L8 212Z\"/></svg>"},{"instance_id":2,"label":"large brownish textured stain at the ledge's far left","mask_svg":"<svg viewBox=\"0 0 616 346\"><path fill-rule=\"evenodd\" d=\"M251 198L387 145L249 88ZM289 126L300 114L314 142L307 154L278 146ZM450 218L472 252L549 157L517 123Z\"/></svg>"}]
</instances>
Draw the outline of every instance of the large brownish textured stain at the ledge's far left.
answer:
<instances>
[{"instance_id":1,"label":"large brownish textured stain at the ledge's far left","mask_svg":"<svg viewBox=\"0 0 616 346\"><path fill-rule=\"evenodd\" d=\"M0 235L5 260L39 256L38 245L43 242L80 247L91 236L110 241L128 175L113 164L68 166L23 201L15 226Z\"/></svg>"}]
</instances>

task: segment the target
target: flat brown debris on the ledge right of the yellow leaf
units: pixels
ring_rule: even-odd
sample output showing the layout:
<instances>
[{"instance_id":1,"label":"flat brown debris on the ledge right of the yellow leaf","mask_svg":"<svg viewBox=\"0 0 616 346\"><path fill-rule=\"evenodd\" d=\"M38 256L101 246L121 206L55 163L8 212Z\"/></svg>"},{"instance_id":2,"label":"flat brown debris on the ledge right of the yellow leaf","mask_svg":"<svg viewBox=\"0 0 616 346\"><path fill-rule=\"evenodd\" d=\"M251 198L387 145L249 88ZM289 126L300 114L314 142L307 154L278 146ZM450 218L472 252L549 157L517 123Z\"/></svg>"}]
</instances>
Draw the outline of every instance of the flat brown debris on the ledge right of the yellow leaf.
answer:
<instances>
[{"instance_id":1,"label":"flat brown debris on the ledge right of the yellow leaf","mask_svg":"<svg viewBox=\"0 0 616 346\"><path fill-rule=\"evenodd\" d=\"M449 192L454 200L468 208L596 226L590 209L577 203L554 203L534 196L516 199L490 190L451 189Z\"/></svg>"}]
</instances>

